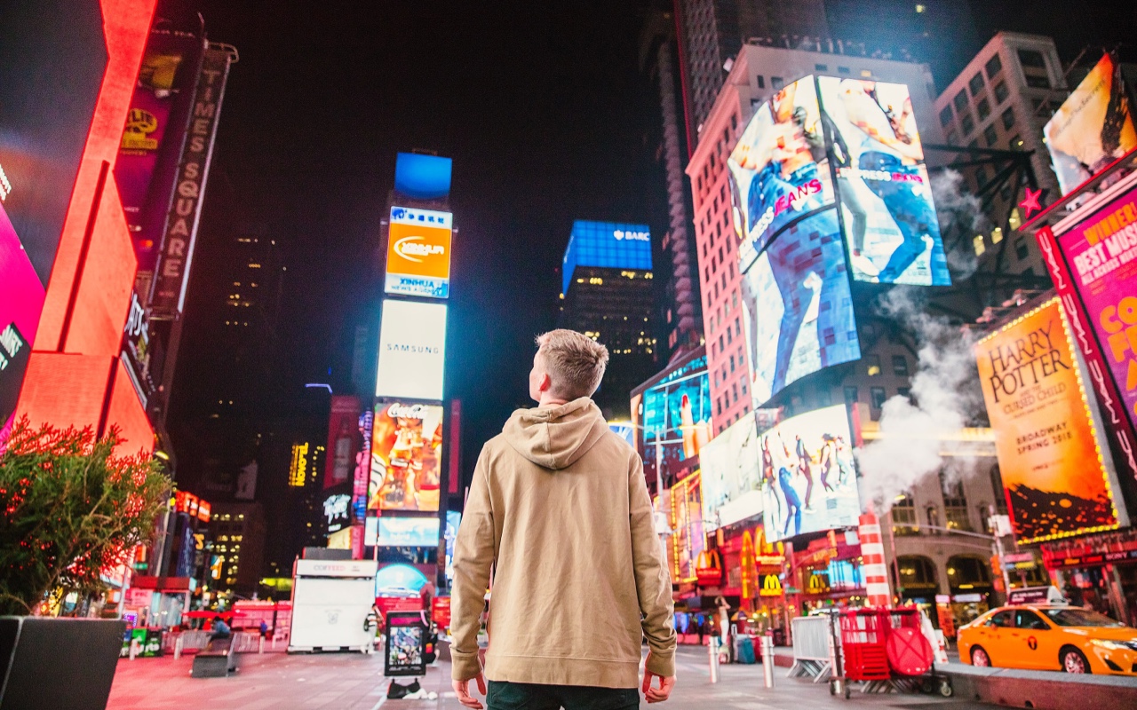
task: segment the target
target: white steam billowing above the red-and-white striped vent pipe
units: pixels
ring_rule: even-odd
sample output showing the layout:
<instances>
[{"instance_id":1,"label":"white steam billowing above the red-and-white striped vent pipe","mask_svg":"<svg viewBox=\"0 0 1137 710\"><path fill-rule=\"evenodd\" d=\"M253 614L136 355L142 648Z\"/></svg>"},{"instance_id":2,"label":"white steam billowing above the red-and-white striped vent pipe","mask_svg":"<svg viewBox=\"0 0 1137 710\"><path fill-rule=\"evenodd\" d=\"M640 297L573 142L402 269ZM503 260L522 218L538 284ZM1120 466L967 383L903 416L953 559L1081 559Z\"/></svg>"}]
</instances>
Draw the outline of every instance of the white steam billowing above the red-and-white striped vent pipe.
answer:
<instances>
[{"instance_id":1,"label":"white steam billowing above the red-and-white striped vent pipe","mask_svg":"<svg viewBox=\"0 0 1137 710\"><path fill-rule=\"evenodd\" d=\"M886 401L881 437L856 452L862 500L883 515L924 476L944 470L958 479L974 470L973 458L940 456L940 435L966 426L984 404L969 333L929 315L911 287L888 292L879 308L915 331L920 346L912 400L896 395Z\"/></svg>"}]
</instances>

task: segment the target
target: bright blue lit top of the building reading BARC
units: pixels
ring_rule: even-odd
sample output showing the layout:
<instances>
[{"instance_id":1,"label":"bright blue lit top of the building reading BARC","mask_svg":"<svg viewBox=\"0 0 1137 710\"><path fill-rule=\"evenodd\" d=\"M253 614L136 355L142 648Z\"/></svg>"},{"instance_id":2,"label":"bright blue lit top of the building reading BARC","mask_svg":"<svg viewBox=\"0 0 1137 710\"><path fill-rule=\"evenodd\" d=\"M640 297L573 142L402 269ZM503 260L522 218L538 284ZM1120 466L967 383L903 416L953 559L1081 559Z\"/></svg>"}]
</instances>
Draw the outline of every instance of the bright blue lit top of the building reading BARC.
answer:
<instances>
[{"instance_id":1,"label":"bright blue lit top of the building reading BARC","mask_svg":"<svg viewBox=\"0 0 1137 710\"><path fill-rule=\"evenodd\" d=\"M646 224L572 223L561 292L568 292L578 266L652 270L652 229Z\"/></svg>"}]
</instances>

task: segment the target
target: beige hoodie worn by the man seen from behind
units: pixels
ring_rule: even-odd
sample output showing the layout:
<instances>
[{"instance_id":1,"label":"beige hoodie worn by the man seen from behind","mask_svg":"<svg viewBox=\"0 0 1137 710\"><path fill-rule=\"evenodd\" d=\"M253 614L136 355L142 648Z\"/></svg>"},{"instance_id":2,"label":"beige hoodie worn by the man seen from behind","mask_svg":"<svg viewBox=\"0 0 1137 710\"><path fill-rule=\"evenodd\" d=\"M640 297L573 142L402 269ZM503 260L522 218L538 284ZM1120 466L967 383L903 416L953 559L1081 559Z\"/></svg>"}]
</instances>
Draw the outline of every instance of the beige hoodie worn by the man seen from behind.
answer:
<instances>
[{"instance_id":1,"label":"beige hoodie worn by the man seen from behind","mask_svg":"<svg viewBox=\"0 0 1137 710\"><path fill-rule=\"evenodd\" d=\"M482 448L454 549L454 678L630 688L675 675L671 578L639 454L589 398L518 409Z\"/></svg>"}]
</instances>

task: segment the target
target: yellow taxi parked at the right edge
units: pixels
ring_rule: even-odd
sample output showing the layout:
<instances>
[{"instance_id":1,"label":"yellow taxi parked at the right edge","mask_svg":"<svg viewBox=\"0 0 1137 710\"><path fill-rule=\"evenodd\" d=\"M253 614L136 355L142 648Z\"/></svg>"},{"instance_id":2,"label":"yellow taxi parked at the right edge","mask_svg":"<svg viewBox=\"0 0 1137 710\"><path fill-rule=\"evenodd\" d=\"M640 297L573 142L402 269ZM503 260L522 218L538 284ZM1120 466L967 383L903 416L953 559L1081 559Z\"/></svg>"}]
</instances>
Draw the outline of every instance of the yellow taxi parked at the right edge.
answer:
<instances>
[{"instance_id":1,"label":"yellow taxi parked at the right edge","mask_svg":"<svg viewBox=\"0 0 1137 710\"><path fill-rule=\"evenodd\" d=\"M1137 628L1079 607L999 607L960 628L972 666L1137 675Z\"/></svg>"}]
</instances>

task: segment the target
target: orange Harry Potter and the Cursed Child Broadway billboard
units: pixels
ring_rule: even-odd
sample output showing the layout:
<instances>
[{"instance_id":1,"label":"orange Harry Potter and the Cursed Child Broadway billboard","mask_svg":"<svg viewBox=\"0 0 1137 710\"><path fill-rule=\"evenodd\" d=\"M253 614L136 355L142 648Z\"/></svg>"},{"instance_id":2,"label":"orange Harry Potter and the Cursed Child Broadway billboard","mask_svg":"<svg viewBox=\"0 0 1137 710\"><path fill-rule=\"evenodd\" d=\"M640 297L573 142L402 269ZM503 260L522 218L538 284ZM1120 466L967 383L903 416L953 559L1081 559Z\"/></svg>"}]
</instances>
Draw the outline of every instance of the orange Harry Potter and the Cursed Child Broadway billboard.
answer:
<instances>
[{"instance_id":1,"label":"orange Harry Potter and the Cursed Child Broadway billboard","mask_svg":"<svg viewBox=\"0 0 1137 710\"><path fill-rule=\"evenodd\" d=\"M1119 527L1109 449L1097 436L1060 301L976 343L976 361L1015 538Z\"/></svg>"}]
</instances>

